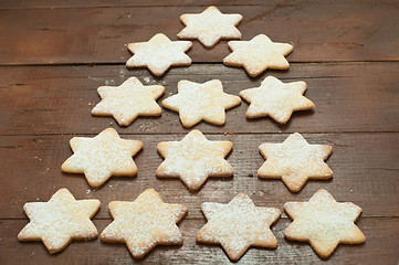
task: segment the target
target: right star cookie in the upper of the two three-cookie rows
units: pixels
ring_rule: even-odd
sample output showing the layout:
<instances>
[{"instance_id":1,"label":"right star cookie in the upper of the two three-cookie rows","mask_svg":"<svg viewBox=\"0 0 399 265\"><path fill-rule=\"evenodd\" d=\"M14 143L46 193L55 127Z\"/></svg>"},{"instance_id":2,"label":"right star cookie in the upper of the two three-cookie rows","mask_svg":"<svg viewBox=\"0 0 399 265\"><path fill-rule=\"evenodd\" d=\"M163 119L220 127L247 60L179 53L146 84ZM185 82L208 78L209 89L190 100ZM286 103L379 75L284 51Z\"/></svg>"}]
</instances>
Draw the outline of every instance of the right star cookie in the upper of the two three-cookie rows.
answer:
<instances>
[{"instance_id":1,"label":"right star cookie in the upper of the two three-cookie rows","mask_svg":"<svg viewBox=\"0 0 399 265\"><path fill-rule=\"evenodd\" d=\"M295 110L313 109L314 103L303 96L305 82L284 84L280 80L267 76L260 87L240 92L240 96L251 105L246 110L248 118L270 116L280 124L288 121Z\"/></svg>"}]
</instances>

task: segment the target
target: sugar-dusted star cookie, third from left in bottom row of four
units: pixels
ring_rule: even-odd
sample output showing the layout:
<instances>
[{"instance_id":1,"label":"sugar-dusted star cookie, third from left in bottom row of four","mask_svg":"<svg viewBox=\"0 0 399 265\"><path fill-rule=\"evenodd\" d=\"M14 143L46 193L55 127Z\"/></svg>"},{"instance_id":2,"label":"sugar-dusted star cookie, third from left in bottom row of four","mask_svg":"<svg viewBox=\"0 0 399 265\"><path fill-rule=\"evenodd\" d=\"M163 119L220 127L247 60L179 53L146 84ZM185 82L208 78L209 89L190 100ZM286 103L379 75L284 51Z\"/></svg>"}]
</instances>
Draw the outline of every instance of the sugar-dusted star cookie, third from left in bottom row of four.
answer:
<instances>
[{"instance_id":1,"label":"sugar-dusted star cookie, third from left in bottom row of four","mask_svg":"<svg viewBox=\"0 0 399 265\"><path fill-rule=\"evenodd\" d=\"M270 226L280 218L279 209L255 206L248 194L239 193L229 204L206 202L202 211L208 223L198 232L197 242L221 244L232 261L250 246L277 246Z\"/></svg>"}]
</instances>

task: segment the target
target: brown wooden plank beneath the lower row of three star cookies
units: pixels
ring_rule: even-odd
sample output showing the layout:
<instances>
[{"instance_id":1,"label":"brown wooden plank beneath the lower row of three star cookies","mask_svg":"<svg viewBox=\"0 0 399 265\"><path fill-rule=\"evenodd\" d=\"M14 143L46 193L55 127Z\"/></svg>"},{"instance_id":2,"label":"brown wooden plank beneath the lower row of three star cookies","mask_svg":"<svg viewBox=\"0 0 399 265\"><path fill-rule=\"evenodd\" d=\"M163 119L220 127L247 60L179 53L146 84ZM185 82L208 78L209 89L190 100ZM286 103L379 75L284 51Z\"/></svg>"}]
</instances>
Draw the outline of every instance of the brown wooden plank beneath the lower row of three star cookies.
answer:
<instances>
[{"instance_id":1,"label":"brown wooden plank beneath the lower row of three star cookies","mask_svg":"<svg viewBox=\"0 0 399 265\"><path fill-rule=\"evenodd\" d=\"M179 179L157 179L155 171L162 159L156 146L164 140L180 140L183 135L135 135L123 138L144 142L135 157L138 176L112 177L93 191L83 174L61 172L61 165L72 155L72 136L6 136L0 139L0 219L24 218L22 206L30 201L48 201L61 188L78 199L97 198L102 210L97 218L109 218L107 205L115 200L134 200L147 188L155 188L171 203L186 203L189 218L201 216L206 201L229 202L246 192L259 205L282 209L286 201L308 200L318 189L327 189L337 201L351 201L364 209L365 216L399 216L399 132L384 134L305 134L311 144L333 145L327 163L334 171L329 181L308 181L298 193L291 193L281 180L261 180L256 171L264 159L258 151L263 142L282 142L286 134L208 135L212 140L231 140L234 145L228 161L233 178L211 178L204 187L190 192Z\"/></svg>"}]
</instances>

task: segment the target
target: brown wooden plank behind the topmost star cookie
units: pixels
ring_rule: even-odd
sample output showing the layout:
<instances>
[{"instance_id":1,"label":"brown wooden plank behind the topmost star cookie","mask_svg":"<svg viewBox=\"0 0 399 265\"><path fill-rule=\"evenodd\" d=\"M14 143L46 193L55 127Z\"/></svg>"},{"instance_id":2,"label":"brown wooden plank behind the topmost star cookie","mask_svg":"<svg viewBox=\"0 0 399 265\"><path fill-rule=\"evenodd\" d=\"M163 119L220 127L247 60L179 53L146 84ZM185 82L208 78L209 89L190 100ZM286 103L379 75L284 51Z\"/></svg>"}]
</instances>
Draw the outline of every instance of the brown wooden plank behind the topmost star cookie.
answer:
<instances>
[{"instance_id":1,"label":"brown wooden plank behind the topmost star cookie","mask_svg":"<svg viewBox=\"0 0 399 265\"><path fill-rule=\"evenodd\" d=\"M225 6L239 12L242 40L260 33L293 43L291 62L399 60L398 2L301 1L275 6ZM124 63L129 42L162 32L172 40L182 13L203 7L126 7L0 10L0 64ZM21 19L23 18L23 19ZM389 23L387 23L389 21ZM315 26L317 25L317 26ZM193 62L222 62L227 42L212 50L193 43Z\"/></svg>"}]
</instances>

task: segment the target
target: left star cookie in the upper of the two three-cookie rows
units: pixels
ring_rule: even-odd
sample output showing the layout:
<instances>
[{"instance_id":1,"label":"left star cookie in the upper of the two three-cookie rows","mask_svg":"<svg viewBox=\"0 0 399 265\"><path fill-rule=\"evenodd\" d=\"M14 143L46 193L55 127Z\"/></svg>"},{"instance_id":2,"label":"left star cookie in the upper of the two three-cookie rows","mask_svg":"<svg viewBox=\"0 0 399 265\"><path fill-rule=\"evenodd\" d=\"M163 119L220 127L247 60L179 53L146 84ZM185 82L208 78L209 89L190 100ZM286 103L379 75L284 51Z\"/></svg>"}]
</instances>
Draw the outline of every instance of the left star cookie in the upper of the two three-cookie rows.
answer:
<instances>
[{"instance_id":1,"label":"left star cookie in the upper of the two three-cookie rows","mask_svg":"<svg viewBox=\"0 0 399 265\"><path fill-rule=\"evenodd\" d=\"M119 86L101 86L97 92L102 100L92 109L92 114L114 116L122 126L128 126L138 116L161 114L156 99L164 94L164 86L144 86L136 77L130 77Z\"/></svg>"}]
</instances>

